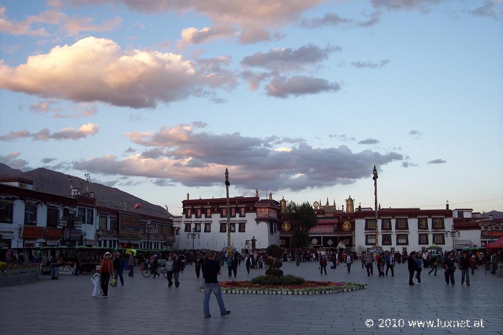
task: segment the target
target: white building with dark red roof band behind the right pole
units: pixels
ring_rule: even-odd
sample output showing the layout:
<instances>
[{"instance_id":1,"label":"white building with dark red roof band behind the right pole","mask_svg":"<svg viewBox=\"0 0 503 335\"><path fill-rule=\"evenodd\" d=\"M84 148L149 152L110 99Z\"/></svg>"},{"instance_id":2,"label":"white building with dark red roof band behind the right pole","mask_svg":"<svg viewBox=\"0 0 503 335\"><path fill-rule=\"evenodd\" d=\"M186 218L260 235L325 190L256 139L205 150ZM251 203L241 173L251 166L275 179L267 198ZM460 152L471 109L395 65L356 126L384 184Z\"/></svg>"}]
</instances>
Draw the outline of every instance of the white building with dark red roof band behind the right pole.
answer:
<instances>
[{"instance_id":1,"label":"white building with dark red roof band behind the right pole","mask_svg":"<svg viewBox=\"0 0 503 335\"><path fill-rule=\"evenodd\" d=\"M432 244L444 251L453 249L450 233L453 217L448 208L383 208L378 215L378 244L384 250L410 253L426 249ZM375 245L375 212L357 210L355 226L357 251L372 248Z\"/></svg>"}]
</instances>

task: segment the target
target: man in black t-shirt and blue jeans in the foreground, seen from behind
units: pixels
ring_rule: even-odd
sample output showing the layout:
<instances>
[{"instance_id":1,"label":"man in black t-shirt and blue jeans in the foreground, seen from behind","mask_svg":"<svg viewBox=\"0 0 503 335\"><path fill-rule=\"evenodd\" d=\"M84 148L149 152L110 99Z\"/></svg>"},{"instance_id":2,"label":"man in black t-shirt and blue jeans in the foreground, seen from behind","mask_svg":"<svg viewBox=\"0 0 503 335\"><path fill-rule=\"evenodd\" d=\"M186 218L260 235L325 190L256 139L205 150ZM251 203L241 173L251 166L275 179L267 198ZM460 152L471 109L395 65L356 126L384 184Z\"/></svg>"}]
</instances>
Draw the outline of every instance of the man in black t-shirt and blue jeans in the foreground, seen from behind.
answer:
<instances>
[{"instance_id":1,"label":"man in black t-shirt and blue jeans in the foreground, seen from behind","mask_svg":"<svg viewBox=\"0 0 503 335\"><path fill-rule=\"evenodd\" d=\"M221 275L220 265L215 262L215 252L213 250L208 251L207 260L203 264L204 273L204 301L203 301L203 312L204 317L211 317L210 314L210 296L211 292L215 295L218 302L218 307L220 307L220 315L225 316L230 314L230 310L225 309L225 304L222 298L222 291L220 290L220 284L218 283L218 275Z\"/></svg>"}]
</instances>

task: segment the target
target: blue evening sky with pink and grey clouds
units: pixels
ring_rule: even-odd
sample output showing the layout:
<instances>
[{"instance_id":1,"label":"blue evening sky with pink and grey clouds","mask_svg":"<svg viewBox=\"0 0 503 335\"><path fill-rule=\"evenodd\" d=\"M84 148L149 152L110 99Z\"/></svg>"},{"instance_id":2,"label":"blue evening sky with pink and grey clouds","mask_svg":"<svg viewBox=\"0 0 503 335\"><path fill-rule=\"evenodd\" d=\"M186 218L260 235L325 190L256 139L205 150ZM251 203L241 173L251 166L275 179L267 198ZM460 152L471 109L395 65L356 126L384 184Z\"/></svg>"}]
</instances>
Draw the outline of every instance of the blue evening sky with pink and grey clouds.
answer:
<instances>
[{"instance_id":1,"label":"blue evening sky with pink and grey clouds","mask_svg":"<svg viewBox=\"0 0 503 335\"><path fill-rule=\"evenodd\" d=\"M503 210L502 0L0 1L0 162L180 214Z\"/></svg>"}]
</instances>

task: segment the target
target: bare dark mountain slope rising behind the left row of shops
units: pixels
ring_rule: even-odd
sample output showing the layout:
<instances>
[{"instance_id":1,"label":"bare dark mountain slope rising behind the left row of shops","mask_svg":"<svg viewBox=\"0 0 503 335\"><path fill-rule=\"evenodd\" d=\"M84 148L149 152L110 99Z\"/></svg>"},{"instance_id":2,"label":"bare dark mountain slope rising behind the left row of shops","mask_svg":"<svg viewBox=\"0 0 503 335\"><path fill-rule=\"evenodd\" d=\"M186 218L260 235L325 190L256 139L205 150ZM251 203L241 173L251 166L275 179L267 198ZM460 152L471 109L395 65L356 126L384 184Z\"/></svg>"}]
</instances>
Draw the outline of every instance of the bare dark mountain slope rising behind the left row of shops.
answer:
<instances>
[{"instance_id":1,"label":"bare dark mountain slope rising behind the left row of shops","mask_svg":"<svg viewBox=\"0 0 503 335\"><path fill-rule=\"evenodd\" d=\"M60 195L70 194L70 181L68 175L45 168L23 172L0 163L0 177L23 177L33 180L34 190ZM87 184L86 180L75 176L71 176L71 179L73 187L82 188L82 190L85 191ZM97 204L101 206L108 205L109 207L122 210L126 207L126 209L130 210L131 205L141 203L143 207L135 209L135 212L161 217L172 216L164 207L152 204L137 196L121 191L118 188L93 182L89 183L88 188L90 192L95 192Z\"/></svg>"}]
</instances>

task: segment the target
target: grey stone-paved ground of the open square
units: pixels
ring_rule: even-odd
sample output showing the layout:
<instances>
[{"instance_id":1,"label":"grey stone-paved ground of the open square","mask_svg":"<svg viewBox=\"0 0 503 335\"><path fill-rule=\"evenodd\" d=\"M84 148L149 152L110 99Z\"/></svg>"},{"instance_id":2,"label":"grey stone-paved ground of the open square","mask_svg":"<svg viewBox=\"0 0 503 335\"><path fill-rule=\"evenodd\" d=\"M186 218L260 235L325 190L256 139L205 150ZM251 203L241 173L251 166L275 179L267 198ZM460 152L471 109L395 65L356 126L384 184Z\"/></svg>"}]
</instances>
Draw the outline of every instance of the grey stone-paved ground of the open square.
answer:
<instances>
[{"instance_id":1,"label":"grey stone-paved ground of the open square","mask_svg":"<svg viewBox=\"0 0 503 335\"><path fill-rule=\"evenodd\" d=\"M225 269L226 270L226 269ZM317 264L285 264L285 273L308 279L368 283L364 290L321 295L224 294L232 313L219 315L214 297L212 317L203 318L201 279L194 268L180 276L181 286L167 288L167 281L125 277L125 286L110 288L109 298L91 297L90 276L59 276L37 283L0 288L0 333L10 334L387 334L483 333L503 334L503 278L478 271L472 286L446 285L442 272L433 277L423 271L423 283L408 286L406 266L397 264L395 277L379 278L375 269L367 277L360 263L351 274L346 268L319 275ZM220 280L228 279L220 276ZM238 268L238 280L246 274ZM46 276L44 276L46 277ZM378 327L379 319L403 319L403 327ZM410 327L409 320L480 320L483 328ZM372 319L371 327L365 325ZM370 322L369 322L370 324ZM443 324L443 322L442 322ZM383 324L384 325L384 324Z\"/></svg>"}]
</instances>

